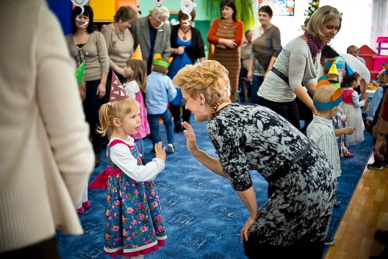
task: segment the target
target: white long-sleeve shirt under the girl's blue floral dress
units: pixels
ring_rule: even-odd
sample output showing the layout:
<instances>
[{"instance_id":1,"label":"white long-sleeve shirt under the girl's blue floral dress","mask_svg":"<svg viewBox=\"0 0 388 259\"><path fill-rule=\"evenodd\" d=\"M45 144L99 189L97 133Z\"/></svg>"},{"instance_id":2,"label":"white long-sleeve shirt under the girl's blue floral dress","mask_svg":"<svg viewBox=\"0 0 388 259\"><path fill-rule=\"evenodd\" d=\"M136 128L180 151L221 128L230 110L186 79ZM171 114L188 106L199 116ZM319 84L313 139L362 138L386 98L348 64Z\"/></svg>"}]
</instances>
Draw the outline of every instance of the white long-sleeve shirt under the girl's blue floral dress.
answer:
<instances>
[{"instance_id":1,"label":"white long-sleeve shirt under the girl's blue floral dress","mask_svg":"<svg viewBox=\"0 0 388 259\"><path fill-rule=\"evenodd\" d=\"M128 136L128 138L129 141L112 137L110 143L117 139L130 146L135 146L133 138L130 136ZM124 174L137 182L152 181L163 171L165 166L165 162L160 158L154 158L146 165L137 165L137 160L131 154L129 147L122 143L118 143L111 147L110 157L112 162L117 165Z\"/></svg>"}]
</instances>

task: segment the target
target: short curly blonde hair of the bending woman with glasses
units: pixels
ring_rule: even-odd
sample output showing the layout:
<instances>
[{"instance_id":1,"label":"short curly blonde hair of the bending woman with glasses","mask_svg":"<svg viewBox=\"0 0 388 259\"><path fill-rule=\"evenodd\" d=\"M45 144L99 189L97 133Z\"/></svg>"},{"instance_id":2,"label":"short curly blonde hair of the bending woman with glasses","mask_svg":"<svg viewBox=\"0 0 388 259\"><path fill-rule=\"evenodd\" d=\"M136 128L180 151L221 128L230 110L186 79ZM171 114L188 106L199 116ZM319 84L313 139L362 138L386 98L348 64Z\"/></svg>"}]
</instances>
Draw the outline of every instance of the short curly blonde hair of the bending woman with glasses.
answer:
<instances>
[{"instance_id":1,"label":"short curly blonde hair of the bending woman with glasses","mask_svg":"<svg viewBox=\"0 0 388 259\"><path fill-rule=\"evenodd\" d=\"M212 106L217 102L229 101L230 81L225 66L215 60L195 65L186 65L180 69L173 82L190 97L205 96L205 102Z\"/></svg>"}]
</instances>

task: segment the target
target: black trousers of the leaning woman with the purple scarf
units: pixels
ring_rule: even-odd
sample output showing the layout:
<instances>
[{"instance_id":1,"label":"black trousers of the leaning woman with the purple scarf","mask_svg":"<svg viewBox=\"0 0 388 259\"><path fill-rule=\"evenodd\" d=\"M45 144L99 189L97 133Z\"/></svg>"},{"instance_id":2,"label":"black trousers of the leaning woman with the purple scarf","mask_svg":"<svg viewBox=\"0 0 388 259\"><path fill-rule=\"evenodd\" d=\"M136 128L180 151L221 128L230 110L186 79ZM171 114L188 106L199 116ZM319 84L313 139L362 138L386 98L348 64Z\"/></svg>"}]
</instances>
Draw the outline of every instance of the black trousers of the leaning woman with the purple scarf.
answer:
<instances>
[{"instance_id":1,"label":"black trousers of the leaning woman with the purple scarf","mask_svg":"<svg viewBox=\"0 0 388 259\"><path fill-rule=\"evenodd\" d=\"M270 108L272 111L278 113L283 118L288 120L296 129L300 130L300 121L298 106L295 99L291 102L273 102L263 97L259 97L259 105Z\"/></svg>"}]
</instances>

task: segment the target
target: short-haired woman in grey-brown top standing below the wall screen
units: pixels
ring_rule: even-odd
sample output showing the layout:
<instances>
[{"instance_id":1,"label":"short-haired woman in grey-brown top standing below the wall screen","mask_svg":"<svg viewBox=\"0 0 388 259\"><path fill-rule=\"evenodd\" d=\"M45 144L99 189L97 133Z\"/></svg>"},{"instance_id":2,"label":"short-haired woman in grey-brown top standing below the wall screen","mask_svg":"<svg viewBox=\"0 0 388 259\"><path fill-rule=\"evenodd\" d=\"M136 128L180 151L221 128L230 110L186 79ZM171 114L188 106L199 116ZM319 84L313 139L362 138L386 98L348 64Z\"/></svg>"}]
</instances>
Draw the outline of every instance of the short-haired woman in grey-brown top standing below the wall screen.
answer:
<instances>
[{"instance_id":1,"label":"short-haired woman in grey-brown top standing below the wall screen","mask_svg":"<svg viewBox=\"0 0 388 259\"><path fill-rule=\"evenodd\" d=\"M252 82L251 102L258 103L258 90L264 77L271 71L280 45L280 31L271 23L272 9L264 5L259 9L259 21L261 26L252 30L252 52L254 58L249 61L247 77Z\"/></svg>"}]
</instances>

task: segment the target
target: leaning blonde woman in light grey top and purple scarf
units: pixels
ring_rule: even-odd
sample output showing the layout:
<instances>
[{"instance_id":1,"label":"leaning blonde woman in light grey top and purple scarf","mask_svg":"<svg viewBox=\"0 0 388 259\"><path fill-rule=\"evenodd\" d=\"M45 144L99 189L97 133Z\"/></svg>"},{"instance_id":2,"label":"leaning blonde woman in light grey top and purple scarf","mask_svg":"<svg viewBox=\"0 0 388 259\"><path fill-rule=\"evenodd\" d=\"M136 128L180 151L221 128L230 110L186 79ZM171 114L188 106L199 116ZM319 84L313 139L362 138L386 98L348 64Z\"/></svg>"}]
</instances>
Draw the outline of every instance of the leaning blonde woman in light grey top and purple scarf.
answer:
<instances>
[{"instance_id":1,"label":"leaning blonde woman in light grey top and purple scarf","mask_svg":"<svg viewBox=\"0 0 388 259\"><path fill-rule=\"evenodd\" d=\"M307 32L284 47L259 88L259 104L279 113L297 129L300 129L300 123L295 97L316 112L302 84L314 94L321 50L339 32L341 15L329 5L315 11L308 22Z\"/></svg>"}]
</instances>

